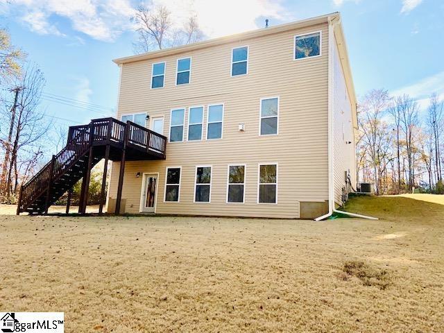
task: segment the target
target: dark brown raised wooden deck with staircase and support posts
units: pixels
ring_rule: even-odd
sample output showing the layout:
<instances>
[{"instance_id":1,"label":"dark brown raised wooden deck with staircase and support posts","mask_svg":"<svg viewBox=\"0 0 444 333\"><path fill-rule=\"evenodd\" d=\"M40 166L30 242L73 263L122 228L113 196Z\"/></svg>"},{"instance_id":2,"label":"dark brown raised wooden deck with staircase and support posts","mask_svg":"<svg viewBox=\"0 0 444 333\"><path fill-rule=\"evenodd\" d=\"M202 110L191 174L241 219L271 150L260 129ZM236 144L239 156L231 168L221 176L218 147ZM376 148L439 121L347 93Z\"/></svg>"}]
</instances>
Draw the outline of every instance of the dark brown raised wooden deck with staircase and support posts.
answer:
<instances>
[{"instance_id":1,"label":"dark brown raised wooden deck with staircase and support posts","mask_svg":"<svg viewBox=\"0 0 444 333\"><path fill-rule=\"evenodd\" d=\"M165 159L167 138L131 121L123 123L113 118L93 119L88 125L71 126L67 145L53 155L19 193L17 214L47 214L48 208L63 194L82 181L79 213L85 214L90 171L105 158L101 203L105 201L105 180L108 160L121 162L116 213L119 214L123 171L126 160ZM69 205L69 203L68 203Z\"/></svg>"}]
</instances>

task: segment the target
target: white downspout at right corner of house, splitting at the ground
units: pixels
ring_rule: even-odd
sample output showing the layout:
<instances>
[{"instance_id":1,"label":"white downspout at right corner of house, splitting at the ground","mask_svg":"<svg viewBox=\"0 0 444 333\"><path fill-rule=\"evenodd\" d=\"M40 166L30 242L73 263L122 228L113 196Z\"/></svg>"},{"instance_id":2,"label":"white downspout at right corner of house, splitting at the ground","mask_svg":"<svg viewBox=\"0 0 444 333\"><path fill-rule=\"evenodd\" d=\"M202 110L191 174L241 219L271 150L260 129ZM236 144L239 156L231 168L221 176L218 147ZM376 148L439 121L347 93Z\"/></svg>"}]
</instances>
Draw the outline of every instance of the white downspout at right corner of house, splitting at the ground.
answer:
<instances>
[{"instance_id":1,"label":"white downspout at right corner of house, splitting at the ground","mask_svg":"<svg viewBox=\"0 0 444 333\"><path fill-rule=\"evenodd\" d=\"M333 118L333 101L334 101L334 89L333 89L333 43L334 43L334 26L339 24L341 20L338 17L328 17L328 213L319 216L315 221L321 221L332 216L333 213L344 214L353 217L360 217L362 219L377 220L372 216L366 216L361 214L354 214L349 212L343 212L336 210L334 207L334 146L333 146L333 133L334 133L334 118Z\"/></svg>"}]
</instances>

